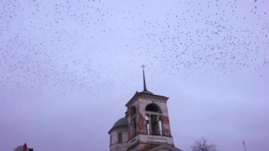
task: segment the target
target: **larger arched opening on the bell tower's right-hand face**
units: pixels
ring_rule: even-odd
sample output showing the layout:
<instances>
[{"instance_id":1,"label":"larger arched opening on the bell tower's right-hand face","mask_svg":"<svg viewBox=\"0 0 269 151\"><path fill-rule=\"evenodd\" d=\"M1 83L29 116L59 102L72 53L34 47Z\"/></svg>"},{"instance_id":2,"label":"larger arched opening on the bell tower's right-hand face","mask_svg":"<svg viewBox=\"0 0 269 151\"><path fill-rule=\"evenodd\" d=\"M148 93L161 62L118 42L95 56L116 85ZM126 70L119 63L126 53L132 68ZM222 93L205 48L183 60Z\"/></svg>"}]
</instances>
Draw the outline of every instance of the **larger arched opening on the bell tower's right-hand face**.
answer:
<instances>
[{"instance_id":1,"label":"larger arched opening on the bell tower's right-hand face","mask_svg":"<svg viewBox=\"0 0 269 151\"><path fill-rule=\"evenodd\" d=\"M156 104L149 104L145 108L146 112L146 126L148 135L163 135L161 108Z\"/></svg>"}]
</instances>

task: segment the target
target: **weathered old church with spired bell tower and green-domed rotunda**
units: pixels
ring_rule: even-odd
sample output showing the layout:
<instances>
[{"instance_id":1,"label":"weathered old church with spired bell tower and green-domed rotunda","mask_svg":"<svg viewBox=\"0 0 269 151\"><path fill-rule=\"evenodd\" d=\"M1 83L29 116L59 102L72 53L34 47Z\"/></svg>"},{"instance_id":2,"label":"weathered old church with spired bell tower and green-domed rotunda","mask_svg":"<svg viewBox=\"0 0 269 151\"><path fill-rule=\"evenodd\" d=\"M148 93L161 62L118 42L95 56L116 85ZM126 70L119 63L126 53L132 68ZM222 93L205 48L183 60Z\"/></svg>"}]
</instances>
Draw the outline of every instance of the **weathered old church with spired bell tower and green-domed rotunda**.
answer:
<instances>
[{"instance_id":1,"label":"weathered old church with spired bell tower and green-domed rotunda","mask_svg":"<svg viewBox=\"0 0 269 151\"><path fill-rule=\"evenodd\" d=\"M125 105L127 111L108 133L110 151L181 151L173 144L168 97L147 91L143 68L144 90L136 92Z\"/></svg>"}]
</instances>

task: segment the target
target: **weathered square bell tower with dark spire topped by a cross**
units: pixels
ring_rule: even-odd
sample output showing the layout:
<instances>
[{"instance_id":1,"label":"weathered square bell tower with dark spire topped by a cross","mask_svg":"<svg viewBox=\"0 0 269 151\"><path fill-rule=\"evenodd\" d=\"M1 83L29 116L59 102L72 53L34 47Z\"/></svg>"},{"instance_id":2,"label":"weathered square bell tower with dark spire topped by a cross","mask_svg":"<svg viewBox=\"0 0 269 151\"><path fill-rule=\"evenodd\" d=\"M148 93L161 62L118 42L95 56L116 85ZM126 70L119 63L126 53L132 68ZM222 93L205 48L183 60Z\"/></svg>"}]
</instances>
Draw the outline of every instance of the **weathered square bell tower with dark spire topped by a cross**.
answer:
<instances>
[{"instance_id":1,"label":"weathered square bell tower with dark spire topped by a cross","mask_svg":"<svg viewBox=\"0 0 269 151\"><path fill-rule=\"evenodd\" d=\"M160 145L174 148L166 102L168 97L147 90L143 67L144 90L136 92L125 105L128 121L128 148L130 151L149 150Z\"/></svg>"}]
</instances>

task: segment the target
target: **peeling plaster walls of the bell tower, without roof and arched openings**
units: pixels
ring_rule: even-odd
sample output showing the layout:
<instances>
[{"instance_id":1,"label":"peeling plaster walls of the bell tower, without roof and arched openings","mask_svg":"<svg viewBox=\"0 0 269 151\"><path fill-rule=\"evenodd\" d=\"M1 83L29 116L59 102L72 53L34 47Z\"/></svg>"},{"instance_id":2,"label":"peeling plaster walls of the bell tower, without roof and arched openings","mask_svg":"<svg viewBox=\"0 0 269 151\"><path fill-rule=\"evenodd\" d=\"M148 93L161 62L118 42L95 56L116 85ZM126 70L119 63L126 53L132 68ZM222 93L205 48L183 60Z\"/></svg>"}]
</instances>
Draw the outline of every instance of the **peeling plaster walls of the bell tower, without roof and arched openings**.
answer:
<instances>
[{"instance_id":1,"label":"peeling plaster walls of the bell tower, without roof and arched openings","mask_svg":"<svg viewBox=\"0 0 269 151\"><path fill-rule=\"evenodd\" d=\"M170 123L168 118L168 108L164 99L157 99L156 97L139 96L136 100L128 104L128 133L131 134L131 117L130 110L132 106L137 109L136 121L137 121L137 135L129 135L128 150L130 151L144 151L149 150L151 147L162 145L164 143L168 145L173 145L173 138L171 137ZM164 135L147 135L147 125L146 125L146 111L145 108L149 104L156 104L161 108L162 115L162 130ZM132 117L133 118L133 117Z\"/></svg>"}]
</instances>

